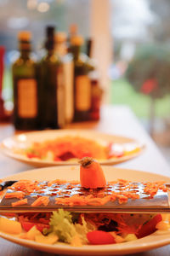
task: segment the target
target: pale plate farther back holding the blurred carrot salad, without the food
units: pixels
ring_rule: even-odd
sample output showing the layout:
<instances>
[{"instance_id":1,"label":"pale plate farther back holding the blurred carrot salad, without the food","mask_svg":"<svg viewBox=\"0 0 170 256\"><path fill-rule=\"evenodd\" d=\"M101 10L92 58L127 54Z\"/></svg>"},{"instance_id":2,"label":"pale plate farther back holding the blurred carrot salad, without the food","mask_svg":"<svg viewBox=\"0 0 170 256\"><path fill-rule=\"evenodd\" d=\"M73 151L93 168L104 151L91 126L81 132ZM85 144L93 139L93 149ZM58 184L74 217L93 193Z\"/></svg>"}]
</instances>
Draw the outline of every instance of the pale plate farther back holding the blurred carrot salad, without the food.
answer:
<instances>
[{"instance_id":1,"label":"pale plate farther back holding the blurred carrot salad, without the food","mask_svg":"<svg viewBox=\"0 0 170 256\"><path fill-rule=\"evenodd\" d=\"M57 130L57 131L35 131L35 132L26 132L22 133L20 135L16 135L14 137L8 137L3 140L3 142L0 145L1 151L3 154L8 155L11 158L14 158L15 160L20 160L21 162L25 162L26 164L29 164L31 166L37 166L37 167L45 167L45 166L63 166L63 165L76 165L77 161L54 161L54 160L38 160L36 158L30 159L26 157L24 154L19 154L17 150L20 149L26 149L31 147L32 143L42 143L47 140L54 140L57 137L63 137L63 136L79 136L79 137L86 137L92 140L95 140L96 142L100 144L105 143L116 143L116 145L119 147L125 147L125 148L131 148L135 147L135 145L139 145L141 150L137 153L128 154L119 158L111 158L110 160L100 160L100 164L105 165L113 165L118 164L120 162L130 160L133 157L138 156L142 153L144 150L144 145L137 142L136 140L133 140L132 138L128 137L119 137L114 135L109 135L105 133L100 133L97 131L88 131L88 130Z\"/></svg>"}]
</instances>

